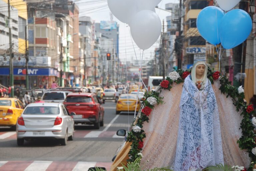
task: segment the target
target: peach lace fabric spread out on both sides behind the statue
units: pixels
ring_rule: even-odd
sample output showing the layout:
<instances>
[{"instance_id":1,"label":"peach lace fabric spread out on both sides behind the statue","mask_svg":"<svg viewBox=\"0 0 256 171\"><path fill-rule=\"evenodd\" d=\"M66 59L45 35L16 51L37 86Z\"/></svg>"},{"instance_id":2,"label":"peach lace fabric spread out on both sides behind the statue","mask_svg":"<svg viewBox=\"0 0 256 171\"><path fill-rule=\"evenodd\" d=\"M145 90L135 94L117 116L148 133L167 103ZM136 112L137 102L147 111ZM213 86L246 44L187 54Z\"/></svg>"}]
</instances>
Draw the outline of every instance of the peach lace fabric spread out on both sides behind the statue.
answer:
<instances>
[{"instance_id":1,"label":"peach lace fabric spread out on both sides behind the statue","mask_svg":"<svg viewBox=\"0 0 256 171\"><path fill-rule=\"evenodd\" d=\"M250 165L248 153L240 150L237 144L237 140L242 136L239 129L242 116L235 110L231 98L221 94L219 81L209 86L213 88L219 111L224 163L247 167ZM174 166L182 88L183 84L174 84L171 91L163 90L160 96L164 97L164 104L156 105L149 116L149 123L143 124L146 138L141 166L144 170Z\"/></svg>"}]
</instances>

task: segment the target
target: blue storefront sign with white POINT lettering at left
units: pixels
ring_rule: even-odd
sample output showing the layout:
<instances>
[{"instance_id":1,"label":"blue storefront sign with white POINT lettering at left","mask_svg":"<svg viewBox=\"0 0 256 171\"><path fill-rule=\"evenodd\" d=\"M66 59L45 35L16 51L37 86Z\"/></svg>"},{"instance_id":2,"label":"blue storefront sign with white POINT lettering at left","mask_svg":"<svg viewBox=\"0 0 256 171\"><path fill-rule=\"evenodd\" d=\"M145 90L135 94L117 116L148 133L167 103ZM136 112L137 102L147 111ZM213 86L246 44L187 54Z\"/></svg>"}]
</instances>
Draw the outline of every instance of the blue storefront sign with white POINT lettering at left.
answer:
<instances>
[{"instance_id":1,"label":"blue storefront sign with white POINT lettering at left","mask_svg":"<svg viewBox=\"0 0 256 171\"><path fill-rule=\"evenodd\" d=\"M9 68L0 68L0 75L9 75ZM22 76L26 75L26 69L24 68L14 68L13 75ZM28 69L29 76L56 76L58 77L58 71L53 68L29 68Z\"/></svg>"}]
</instances>

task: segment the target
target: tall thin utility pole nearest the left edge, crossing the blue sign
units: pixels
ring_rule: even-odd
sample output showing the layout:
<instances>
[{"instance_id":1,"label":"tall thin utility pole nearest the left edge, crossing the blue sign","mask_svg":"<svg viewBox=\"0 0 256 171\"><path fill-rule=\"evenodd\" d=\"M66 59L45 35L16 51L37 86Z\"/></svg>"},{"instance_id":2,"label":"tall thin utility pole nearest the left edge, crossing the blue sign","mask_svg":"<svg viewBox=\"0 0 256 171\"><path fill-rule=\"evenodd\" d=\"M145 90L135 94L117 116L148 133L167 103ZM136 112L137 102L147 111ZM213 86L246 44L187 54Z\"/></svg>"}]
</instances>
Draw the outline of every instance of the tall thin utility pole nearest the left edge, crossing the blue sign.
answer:
<instances>
[{"instance_id":1,"label":"tall thin utility pole nearest the left edge, crossing the blue sign","mask_svg":"<svg viewBox=\"0 0 256 171\"><path fill-rule=\"evenodd\" d=\"M11 12L10 12L10 0L8 0L8 26L9 26L9 44L10 44L10 60L9 60L9 67L10 67L10 86L11 86L11 97L14 96L14 85L13 85L13 64L12 64L12 22L11 22Z\"/></svg>"}]
</instances>

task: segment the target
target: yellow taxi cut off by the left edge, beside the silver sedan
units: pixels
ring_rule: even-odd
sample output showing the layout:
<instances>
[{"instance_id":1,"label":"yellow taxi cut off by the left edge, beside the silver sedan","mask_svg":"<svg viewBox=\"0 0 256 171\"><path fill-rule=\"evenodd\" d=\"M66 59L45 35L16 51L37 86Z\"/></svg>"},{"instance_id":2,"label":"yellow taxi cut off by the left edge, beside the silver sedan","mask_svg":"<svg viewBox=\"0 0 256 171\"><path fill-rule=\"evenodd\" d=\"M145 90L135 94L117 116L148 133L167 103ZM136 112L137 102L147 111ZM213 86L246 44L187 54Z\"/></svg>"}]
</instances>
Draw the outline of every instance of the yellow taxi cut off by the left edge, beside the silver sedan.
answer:
<instances>
[{"instance_id":1,"label":"yellow taxi cut off by the left edge, beside the silver sedan","mask_svg":"<svg viewBox=\"0 0 256 171\"><path fill-rule=\"evenodd\" d=\"M25 106L17 98L0 98L0 126L16 128L16 122Z\"/></svg>"}]
</instances>

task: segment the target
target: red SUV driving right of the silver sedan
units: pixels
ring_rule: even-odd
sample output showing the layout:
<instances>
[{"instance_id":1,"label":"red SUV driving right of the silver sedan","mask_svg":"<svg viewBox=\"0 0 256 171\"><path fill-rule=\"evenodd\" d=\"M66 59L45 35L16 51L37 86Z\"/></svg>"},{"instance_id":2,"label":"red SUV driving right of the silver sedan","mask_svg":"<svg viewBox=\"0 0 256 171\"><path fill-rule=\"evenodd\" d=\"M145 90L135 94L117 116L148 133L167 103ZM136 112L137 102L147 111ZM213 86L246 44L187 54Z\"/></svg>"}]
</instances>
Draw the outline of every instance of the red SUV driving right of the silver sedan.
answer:
<instances>
[{"instance_id":1,"label":"red SUV driving right of the silver sedan","mask_svg":"<svg viewBox=\"0 0 256 171\"><path fill-rule=\"evenodd\" d=\"M104 108L94 93L69 93L63 102L68 112L75 113L75 124L94 124L96 129L104 124Z\"/></svg>"}]
</instances>

